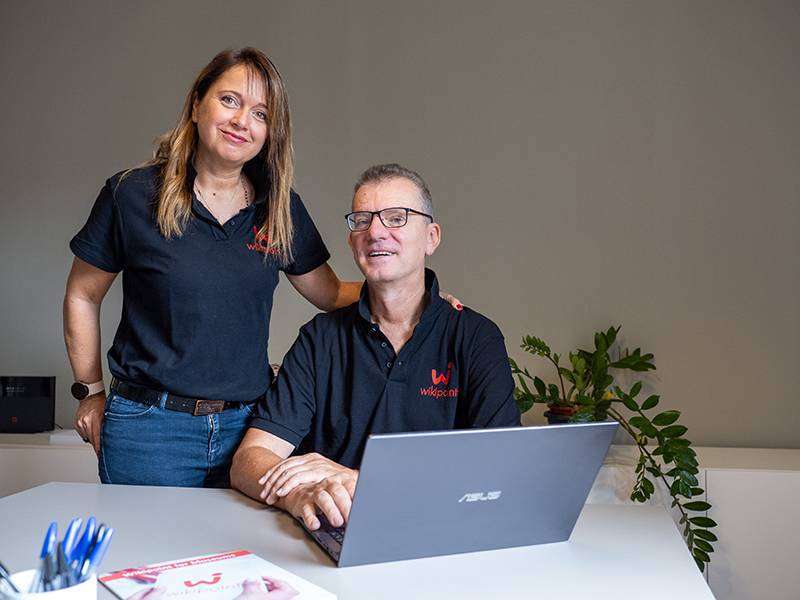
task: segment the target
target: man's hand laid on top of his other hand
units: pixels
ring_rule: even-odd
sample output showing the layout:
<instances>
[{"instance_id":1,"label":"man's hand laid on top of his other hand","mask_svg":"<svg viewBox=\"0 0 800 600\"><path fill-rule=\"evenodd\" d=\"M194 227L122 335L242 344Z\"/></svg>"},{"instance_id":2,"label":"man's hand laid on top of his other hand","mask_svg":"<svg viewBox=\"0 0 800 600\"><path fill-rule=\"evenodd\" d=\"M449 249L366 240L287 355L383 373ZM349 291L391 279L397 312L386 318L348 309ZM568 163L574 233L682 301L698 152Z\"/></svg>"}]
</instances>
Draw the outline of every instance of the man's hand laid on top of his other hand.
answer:
<instances>
[{"instance_id":1,"label":"man's hand laid on top of his other hand","mask_svg":"<svg viewBox=\"0 0 800 600\"><path fill-rule=\"evenodd\" d=\"M348 469L321 454L312 452L301 456L290 456L267 471L258 480L264 486L261 498L267 504L275 504L301 484L317 483L334 475L344 479L358 479L358 471Z\"/></svg>"}]
</instances>

